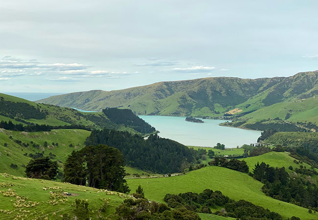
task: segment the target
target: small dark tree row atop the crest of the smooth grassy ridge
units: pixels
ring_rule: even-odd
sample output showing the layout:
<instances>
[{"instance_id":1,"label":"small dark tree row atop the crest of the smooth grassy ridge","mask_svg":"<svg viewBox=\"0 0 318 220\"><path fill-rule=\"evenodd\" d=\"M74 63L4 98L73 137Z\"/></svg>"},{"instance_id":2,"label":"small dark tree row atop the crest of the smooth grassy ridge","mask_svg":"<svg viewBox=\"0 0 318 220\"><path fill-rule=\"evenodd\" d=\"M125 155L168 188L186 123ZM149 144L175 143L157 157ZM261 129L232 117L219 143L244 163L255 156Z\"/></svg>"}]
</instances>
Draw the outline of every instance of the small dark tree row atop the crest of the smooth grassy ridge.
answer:
<instances>
[{"instance_id":1,"label":"small dark tree row atop the crest of the smooth grassy ridge","mask_svg":"<svg viewBox=\"0 0 318 220\"><path fill-rule=\"evenodd\" d=\"M249 173L249 166L246 164L245 160L237 160L237 159L230 159L227 160L225 156L216 156L213 160L209 162L210 166L221 166L226 167L231 170L236 170L242 173Z\"/></svg>"}]
</instances>

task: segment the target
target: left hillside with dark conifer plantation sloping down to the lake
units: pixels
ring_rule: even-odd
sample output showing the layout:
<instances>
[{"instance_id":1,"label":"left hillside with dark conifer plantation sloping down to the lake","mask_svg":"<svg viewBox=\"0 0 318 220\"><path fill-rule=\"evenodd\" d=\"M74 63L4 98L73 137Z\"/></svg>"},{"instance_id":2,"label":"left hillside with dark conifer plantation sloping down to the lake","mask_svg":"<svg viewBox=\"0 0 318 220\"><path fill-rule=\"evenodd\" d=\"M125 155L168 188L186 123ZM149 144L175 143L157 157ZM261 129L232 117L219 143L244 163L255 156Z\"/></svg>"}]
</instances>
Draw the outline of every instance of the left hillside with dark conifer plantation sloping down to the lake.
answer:
<instances>
[{"instance_id":1,"label":"left hillside with dark conifer plantation sloping down to the lake","mask_svg":"<svg viewBox=\"0 0 318 220\"><path fill-rule=\"evenodd\" d=\"M112 109L112 119L103 112L80 112L48 104L38 104L0 93L0 121L13 124L77 126L84 129L115 129L132 133L153 133L155 128L137 117L131 110ZM106 112L106 111L105 111ZM115 120L120 115L121 121ZM114 118L114 119L113 119ZM3 128L3 127L2 127Z\"/></svg>"}]
</instances>

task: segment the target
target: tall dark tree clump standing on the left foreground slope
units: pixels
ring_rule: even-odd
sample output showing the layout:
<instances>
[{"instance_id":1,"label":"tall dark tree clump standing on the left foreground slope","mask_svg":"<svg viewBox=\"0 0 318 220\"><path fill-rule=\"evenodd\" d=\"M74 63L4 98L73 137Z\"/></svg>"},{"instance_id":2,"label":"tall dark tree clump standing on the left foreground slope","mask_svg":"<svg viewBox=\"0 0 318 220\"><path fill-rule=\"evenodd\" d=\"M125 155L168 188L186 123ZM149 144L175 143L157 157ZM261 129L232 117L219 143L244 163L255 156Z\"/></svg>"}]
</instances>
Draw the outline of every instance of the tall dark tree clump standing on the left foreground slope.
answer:
<instances>
[{"instance_id":1,"label":"tall dark tree clump standing on the left foreground slope","mask_svg":"<svg viewBox=\"0 0 318 220\"><path fill-rule=\"evenodd\" d=\"M64 165L64 180L77 185L86 185L126 193L129 192L124 170L123 155L107 145L86 146L73 151Z\"/></svg>"}]
</instances>

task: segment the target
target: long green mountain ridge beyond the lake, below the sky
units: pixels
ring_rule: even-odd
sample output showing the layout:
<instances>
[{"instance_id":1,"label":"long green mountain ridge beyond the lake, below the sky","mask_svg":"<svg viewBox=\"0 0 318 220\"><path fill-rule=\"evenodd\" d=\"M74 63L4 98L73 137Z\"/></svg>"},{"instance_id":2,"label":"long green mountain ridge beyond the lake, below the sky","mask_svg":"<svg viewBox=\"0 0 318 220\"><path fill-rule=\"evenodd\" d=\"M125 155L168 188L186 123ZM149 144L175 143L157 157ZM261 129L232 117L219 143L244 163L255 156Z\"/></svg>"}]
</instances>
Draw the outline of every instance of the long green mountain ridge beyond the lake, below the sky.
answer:
<instances>
[{"instance_id":1,"label":"long green mountain ridge beyond the lake, below the sky","mask_svg":"<svg viewBox=\"0 0 318 220\"><path fill-rule=\"evenodd\" d=\"M250 123L275 117L316 123L317 111L315 104L311 103L316 100L308 98L318 94L317 84L318 71L261 79L216 77L160 82L115 91L75 92L38 102L85 110L128 108L145 115L222 116L238 108L234 115L245 115L242 120L251 119ZM308 101L302 101L306 99ZM282 104L273 106L277 103ZM311 105L307 105L309 103ZM260 111L252 113L264 107L268 107L263 110L265 114Z\"/></svg>"}]
</instances>

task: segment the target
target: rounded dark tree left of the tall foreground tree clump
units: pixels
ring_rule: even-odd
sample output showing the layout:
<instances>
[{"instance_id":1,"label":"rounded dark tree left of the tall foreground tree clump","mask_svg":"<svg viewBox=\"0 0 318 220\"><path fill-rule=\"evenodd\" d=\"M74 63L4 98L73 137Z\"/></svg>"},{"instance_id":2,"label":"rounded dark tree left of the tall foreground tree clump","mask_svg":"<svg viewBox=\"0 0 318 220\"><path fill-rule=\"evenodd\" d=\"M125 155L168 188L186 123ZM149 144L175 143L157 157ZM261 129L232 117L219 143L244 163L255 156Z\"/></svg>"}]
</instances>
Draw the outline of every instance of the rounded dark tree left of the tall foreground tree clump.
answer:
<instances>
[{"instance_id":1,"label":"rounded dark tree left of the tall foreground tree clump","mask_svg":"<svg viewBox=\"0 0 318 220\"><path fill-rule=\"evenodd\" d=\"M48 156L30 160L25 168L25 174L29 178L55 179L57 171L57 162L53 162Z\"/></svg>"}]
</instances>

